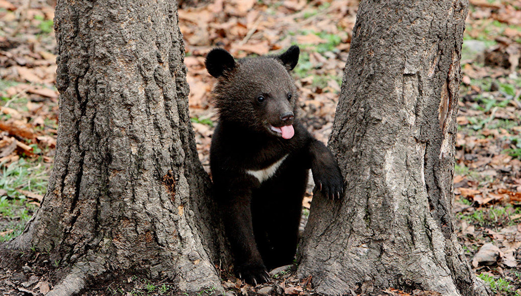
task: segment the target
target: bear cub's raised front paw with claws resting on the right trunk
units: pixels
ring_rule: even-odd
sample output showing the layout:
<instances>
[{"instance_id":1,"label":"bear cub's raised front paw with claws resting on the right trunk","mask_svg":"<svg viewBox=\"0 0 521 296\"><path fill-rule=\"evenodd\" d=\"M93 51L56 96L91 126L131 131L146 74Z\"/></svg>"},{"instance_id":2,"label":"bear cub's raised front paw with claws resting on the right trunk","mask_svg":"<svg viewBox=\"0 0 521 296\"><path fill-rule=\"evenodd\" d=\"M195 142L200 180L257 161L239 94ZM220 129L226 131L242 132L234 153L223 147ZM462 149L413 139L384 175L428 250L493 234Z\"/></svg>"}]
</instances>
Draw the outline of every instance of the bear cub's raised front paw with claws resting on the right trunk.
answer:
<instances>
[{"instance_id":1,"label":"bear cub's raised front paw with claws resting on the right trunk","mask_svg":"<svg viewBox=\"0 0 521 296\"><path fill-rule=\"evenodd\" d=\"M340 199L343 192L344 180L340 168L334 159L328 162L314 163L311 171L315 186L328 198Z\"/></svg>"}]
</instances>

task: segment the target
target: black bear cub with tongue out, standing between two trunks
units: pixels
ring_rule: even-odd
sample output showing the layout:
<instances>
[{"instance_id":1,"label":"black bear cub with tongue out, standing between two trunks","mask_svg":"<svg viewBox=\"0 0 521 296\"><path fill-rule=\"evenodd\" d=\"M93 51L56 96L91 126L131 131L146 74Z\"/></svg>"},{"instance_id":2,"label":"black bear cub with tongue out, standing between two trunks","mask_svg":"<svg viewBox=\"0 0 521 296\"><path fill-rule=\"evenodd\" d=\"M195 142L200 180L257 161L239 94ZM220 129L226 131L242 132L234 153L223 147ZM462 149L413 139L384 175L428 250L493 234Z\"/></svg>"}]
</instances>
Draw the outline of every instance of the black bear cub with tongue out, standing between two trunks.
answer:
<instances>
[{"instance_id":1,"label":"black bear cub with tongue out, standing between two trunks","mask_svg":"<svg viewBox=\"0 0 521 296\"><path fill-rule=\"evenodd\" d=\"M247 283L292 264L309 169L322 195L340 198L336 159L297 117L299 93L289 71L299 47L278 56L235 60L222 48L206 57L218 125L210 147L215 199L235 260Z\"/></svg>"}]
</instances>

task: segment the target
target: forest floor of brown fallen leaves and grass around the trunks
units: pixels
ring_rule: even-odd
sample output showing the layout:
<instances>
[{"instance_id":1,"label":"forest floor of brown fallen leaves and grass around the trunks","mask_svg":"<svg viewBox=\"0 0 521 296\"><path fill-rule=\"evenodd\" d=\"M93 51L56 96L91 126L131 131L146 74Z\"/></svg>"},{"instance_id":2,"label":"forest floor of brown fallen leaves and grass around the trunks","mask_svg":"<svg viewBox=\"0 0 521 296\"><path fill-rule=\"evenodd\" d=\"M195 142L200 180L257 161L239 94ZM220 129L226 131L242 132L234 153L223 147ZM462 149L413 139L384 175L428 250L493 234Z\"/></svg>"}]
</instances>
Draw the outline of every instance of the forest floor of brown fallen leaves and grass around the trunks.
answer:
<instances>
[{"instance_id":1,"label":"forest floor of brown fallen leaves and grass around the trunks","mask_svg":"<svg viewBox=\"0 0 521 296\"><path fill-rule=\"evenodd\" d=\"M51 1L49 1L51 2ZM43 0L0 0L0 242L23 230L51 174L58 125L54 8ZM222 46L235 57L299 44L293 71L301 117L327 142L349 52L356 0L217 0L179 10L190 112L206 170L215 112L204 56ZM197 2L197 1L195 1ZM521 1L470 0L462 52L454 176L456 231L478 277L497 295L521 295ZM28 7L28 5L30 7ZM303 213L309 212L307 192ZM59 262L48 263L61 268ZM45 294L55 284L30 266L0 268L0 293ZM303 295L309 280L279 270L267 285L244 285L225 271L231 293ZM390 287L388 295L408 295ZM129 277L96 295L172 294L167 282ZM202 291L210 295L212 288ZM92 293L89 293L92 294ZM414 294L414 293L413 293ZM417 292L416 294L420 294Z\"/></svg>"}]
</instances>

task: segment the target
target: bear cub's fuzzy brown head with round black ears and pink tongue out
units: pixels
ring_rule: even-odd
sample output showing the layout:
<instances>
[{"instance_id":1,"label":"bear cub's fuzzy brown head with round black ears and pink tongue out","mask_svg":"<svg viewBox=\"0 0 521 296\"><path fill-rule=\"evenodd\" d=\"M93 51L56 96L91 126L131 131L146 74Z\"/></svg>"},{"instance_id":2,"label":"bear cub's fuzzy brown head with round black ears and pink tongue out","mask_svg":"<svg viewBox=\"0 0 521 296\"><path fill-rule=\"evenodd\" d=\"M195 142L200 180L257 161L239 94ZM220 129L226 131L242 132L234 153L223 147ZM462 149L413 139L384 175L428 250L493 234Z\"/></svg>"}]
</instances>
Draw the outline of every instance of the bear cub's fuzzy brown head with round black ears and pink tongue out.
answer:
<instances>
[{"instance_id":1,"label":"bear cub's fuzzy brown head with round black ears and pink tongue out","mask_svg":"<svg viewBox=\"0 0 521 296\"><path fill-rule=\"evenodd\" d=\"M206 69L217 78L215 107L221 121L290 139L299 94L289 71L299 60L299 46L281 55L235 60L222 48L206 56Z\"/></svg>"}]
</instances>

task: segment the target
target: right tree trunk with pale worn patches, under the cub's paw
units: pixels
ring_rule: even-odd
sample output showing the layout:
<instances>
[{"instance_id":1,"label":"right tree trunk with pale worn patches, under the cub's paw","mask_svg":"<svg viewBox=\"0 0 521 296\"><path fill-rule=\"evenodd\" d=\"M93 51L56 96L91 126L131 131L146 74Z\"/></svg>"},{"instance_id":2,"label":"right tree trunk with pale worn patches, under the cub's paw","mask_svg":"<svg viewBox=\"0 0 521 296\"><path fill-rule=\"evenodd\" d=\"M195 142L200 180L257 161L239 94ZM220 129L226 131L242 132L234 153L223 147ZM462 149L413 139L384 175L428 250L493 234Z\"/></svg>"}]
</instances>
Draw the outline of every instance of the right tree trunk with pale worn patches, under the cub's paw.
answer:
<instances>
[{"instance_id":1,"label":"right tree trunk with pale worn patches, under the cub's paw","mask_svg":"<svg viewBox=\"0 0 521 296\"><path fill-rule=\"evenodd\" d=\"M363 1L329 145L344 196L313 199L300 277L327 295L489 295L454 234L466 0ZM318 193L317 193L318 195Z\"/></svg>"}]
</instances>

